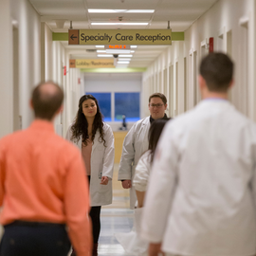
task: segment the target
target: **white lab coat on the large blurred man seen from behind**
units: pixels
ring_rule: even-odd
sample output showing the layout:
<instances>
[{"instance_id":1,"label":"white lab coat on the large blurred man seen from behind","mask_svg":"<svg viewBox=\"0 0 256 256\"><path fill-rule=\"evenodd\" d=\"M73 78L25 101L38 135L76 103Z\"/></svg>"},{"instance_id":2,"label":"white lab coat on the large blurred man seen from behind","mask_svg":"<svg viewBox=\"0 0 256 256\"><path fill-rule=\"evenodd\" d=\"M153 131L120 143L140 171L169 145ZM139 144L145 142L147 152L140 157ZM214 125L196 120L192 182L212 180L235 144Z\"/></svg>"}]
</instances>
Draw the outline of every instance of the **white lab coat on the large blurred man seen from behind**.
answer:
<instances>
[{"instance_id":1,"label":"white lab coat on the large blurred man seen from behind","mask_svg":"<svg viewBox=\"0 0 256 256\"><path fill-rule=\"evenodd\" d=\"M255 172L255 124L229 101L201 101L160 137L142 237L175 255L255 255Z\"/></svg>"}]
</instances>

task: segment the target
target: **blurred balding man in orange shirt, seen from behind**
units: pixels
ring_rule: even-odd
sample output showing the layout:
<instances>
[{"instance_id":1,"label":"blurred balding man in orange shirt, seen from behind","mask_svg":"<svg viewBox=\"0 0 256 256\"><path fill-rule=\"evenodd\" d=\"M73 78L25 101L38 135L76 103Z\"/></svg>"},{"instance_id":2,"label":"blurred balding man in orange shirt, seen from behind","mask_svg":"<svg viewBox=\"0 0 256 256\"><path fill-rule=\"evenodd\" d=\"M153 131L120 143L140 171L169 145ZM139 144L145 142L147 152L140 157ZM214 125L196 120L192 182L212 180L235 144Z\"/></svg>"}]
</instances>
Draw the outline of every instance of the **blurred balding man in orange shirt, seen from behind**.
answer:
<instances>
[{"instance_id":1,"label":"blurred balding man in orange shirt, seen from behind","mask_svg":"<svg viewBox=\"0 0 256 256\"><path fill-rule=\"evenodd\" d=\"M30 101L35 120L0 140L1 255L91 255L89 190L78 149L54 133L64 93L39 84ZM66 227L68 229L66 229Z\"/></svg>"}]
</instances>

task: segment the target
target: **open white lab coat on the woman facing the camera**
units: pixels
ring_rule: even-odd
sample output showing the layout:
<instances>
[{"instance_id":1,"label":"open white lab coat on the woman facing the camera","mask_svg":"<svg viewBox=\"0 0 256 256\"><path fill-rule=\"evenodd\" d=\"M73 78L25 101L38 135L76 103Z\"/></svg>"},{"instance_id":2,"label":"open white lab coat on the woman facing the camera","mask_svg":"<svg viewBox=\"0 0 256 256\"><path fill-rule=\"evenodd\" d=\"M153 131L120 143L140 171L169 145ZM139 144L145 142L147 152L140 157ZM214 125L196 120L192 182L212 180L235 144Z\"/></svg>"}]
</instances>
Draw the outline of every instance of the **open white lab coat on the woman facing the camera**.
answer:
<instances>
[{"instance_id":1,"label":"open white lab coat on the woman facing the camera","mask_svg":"<svg viewBox=\"0 0 256 256\"><path fill-rule=\"evenodd\" d=\"M90 181L91 206L104 206L112 203L112 177L115 158L114 136L111 127L106 123L104 123L103 132L106 147L104 147L103 142L99 141L99 130L96 132L92 145ZM66 139L71 141L71 137L70 125ZM71 142L82 150L82 137L77 142ZM107 185L101 185L101 176L109 177Z\"/></svg>"}]
</instances>

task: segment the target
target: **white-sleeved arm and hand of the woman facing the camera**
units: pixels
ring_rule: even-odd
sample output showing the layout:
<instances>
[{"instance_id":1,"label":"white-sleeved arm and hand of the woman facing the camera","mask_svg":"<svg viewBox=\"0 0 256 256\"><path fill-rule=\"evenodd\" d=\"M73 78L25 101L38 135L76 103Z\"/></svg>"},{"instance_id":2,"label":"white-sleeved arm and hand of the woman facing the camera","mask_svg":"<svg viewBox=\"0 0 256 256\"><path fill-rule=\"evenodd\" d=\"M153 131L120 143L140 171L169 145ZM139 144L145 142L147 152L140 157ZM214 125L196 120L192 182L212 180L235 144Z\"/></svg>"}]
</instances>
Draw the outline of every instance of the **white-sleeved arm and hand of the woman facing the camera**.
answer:
<instances>
[{"instance_id":1,"label":"white-sleeved arm and hand of the woman facing the camera","mask_svg":"<svg viewBox=\"0 0 256 256\"><path fill-rule=\"evenodd\" d=\"M107 126L104 130L104 139L106 141L106 148L104 149L103 156L103 169L101 184L107 185L108 180L112 179L114 171L114 160L115 160L115 146L114 146L114 136L111 128Z\"/></svg>"}]
</instances>

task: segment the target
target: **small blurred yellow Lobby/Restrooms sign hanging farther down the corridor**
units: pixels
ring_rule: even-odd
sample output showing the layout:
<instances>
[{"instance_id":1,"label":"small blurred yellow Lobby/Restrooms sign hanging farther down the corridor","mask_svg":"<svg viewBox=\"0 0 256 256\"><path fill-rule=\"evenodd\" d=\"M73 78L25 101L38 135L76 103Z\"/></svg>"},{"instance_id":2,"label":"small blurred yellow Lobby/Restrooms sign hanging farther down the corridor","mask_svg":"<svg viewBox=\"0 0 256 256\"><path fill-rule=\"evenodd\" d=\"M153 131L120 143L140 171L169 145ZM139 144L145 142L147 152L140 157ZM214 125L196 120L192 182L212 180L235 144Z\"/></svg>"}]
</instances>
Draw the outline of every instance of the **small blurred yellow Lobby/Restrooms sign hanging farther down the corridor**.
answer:
<instances>
[{"instance_id":1,"label":"small blurred yellow Lobby/Restrooms sign hanging farther down the corridor","mask_svg":"<svg viewBox=\"0 0 256 256\"><path fill-rule=\"evenodd\" d=\"M114 59L78 59L78 60L69 60L70 68L104 68L104 67L115 67Z\"/></svg>"}]
</instances>

